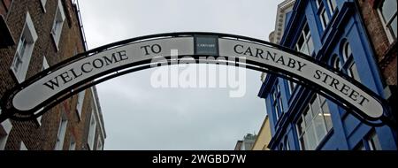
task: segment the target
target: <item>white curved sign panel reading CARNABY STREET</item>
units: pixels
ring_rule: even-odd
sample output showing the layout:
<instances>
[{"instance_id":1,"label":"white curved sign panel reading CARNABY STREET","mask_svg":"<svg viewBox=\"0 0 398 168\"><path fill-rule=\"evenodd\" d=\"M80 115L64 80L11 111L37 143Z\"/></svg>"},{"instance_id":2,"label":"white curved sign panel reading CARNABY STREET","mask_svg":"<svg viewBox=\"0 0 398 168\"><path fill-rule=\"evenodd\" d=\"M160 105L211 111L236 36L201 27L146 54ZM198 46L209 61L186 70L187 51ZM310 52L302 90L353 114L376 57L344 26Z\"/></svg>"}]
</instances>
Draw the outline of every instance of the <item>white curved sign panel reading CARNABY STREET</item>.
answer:
<instances>
[{"instance_id":1,"label":"white curved sign panel reading CARNABY STREET","mask_svg":"<svg viewBox=\"0 0 398 168\"><path fill-rule=\"evenodd\" d=\"M339 75L302 57L252 42L239 42L229 39L218 39L218 42L220 56L246 57L247 60L295 73L302 78L313 81L319 87L339 95L341 99L356 106L371 118L379 118L383 114L381 103L371 95Z\"/></svg>"}]
</instances>

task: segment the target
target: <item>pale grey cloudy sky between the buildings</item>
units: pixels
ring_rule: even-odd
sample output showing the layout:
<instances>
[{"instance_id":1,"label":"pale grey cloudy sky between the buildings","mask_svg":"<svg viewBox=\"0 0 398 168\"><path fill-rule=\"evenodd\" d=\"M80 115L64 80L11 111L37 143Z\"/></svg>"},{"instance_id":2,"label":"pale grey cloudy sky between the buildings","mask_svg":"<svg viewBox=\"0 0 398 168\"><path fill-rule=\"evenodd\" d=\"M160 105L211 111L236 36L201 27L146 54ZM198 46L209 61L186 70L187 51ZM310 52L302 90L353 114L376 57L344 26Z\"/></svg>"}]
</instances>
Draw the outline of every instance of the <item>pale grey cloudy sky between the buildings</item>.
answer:
<instances>
[{"instance_id":1,"label":"pale grey cloudy sky between the buildings","mask_svg":"<svg viewBox=\"0 0 398 168\"><path fill-rule=\"evenodd\" d=\"M88 48L94 49L137 36L183 31L268 40L280 2L80 0L80 10ZM266 115L264 100L257 97L259 72L247 70L241 80L246 94L232 98L232 87L154 88L151 75L169 68L129 73L97 85L107 133L104 149L228 150L245 134L258 132Z\"/></svg>"}]
</instances>

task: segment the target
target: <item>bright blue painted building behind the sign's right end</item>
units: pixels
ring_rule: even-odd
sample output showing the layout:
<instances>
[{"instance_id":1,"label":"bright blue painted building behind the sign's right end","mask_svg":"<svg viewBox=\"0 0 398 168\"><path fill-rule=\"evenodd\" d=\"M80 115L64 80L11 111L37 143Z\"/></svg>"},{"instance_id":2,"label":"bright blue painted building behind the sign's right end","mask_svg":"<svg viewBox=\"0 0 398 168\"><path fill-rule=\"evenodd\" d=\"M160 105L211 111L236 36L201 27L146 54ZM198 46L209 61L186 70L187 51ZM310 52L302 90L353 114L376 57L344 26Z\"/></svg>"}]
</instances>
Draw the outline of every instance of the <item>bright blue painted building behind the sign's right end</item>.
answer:
<instances>
[{"instance_id":1,"label":"bright blue painted building behind the sign's right end","mask_svg":"<svg viewBox=\"0 0 398 168\"><path fill-rule=\"evenodd\" d=\"M374 51L354 0L296 0L280 45L333 66L384 96ZM268 74L259 96L270 118L270 149L397 149L396 130L368 126L309 88Z\"/></svg>"}]
</instances>

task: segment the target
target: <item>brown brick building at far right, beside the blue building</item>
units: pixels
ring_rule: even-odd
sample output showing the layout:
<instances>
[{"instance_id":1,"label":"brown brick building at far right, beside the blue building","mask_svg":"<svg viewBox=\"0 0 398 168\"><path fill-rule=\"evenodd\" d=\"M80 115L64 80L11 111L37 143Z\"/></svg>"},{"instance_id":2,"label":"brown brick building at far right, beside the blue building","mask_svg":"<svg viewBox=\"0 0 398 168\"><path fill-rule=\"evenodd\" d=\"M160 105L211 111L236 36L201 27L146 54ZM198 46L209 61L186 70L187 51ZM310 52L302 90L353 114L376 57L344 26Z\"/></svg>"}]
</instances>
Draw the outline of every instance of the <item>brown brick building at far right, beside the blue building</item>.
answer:
<instances>
[{"instance_id":1,"label":"brown brick building at far right, beside the blue building","mask_svg":"<svg viewBox=\"0 0 398 168\"><path fill-rule=\"evenodd\" d=\"M358 1L364 25L385 81L385 95L397 114L396 55L397 2L394 0Z\"/></svg>"}]
</instances>

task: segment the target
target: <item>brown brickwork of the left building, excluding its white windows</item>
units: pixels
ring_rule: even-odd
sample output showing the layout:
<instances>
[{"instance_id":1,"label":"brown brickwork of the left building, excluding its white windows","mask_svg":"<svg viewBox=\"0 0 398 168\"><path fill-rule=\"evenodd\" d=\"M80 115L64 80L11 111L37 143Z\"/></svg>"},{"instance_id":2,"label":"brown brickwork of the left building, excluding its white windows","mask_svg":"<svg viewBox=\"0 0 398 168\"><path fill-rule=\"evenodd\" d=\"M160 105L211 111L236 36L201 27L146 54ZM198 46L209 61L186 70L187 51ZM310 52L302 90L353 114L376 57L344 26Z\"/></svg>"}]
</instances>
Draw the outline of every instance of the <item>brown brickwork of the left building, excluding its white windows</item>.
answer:
<instances>
[{"instance_id":1,"label":"brown brickwork of the left building, excluding its white windows","mask_svg":"<svg viewBox=\"0 0 398 168\"><path fill-rule=\"evenodd\" d=\"M82 52L84 50L76 15L68 13L74 11L70 0L62 0L65 7L65 15L68 18L65 19L59 41L59 50L57 50L50 34L57 11L57 2L57 0L47 0L44 11L42 10L40 0L12 1L6 20L14 41L19 42L19 36L26 20L27 11L30 13L34 22L34 28L38 34L38 39L34 43L34 51L26 79L42 70L42 59L44 56L49 65L55 65L68 57L72 57L75 51ZM0 49L0 96L4 95L5 90L12 88L18 83L10 70L16 48L17 44ZM91 93L88 89L80 118L76 112L77 95L73 95L46 112L42 116L42 126L37 125L35 121L19 122L12 120L12 129L5 149L19 149L20 141L24 141L27 149L54 149L62 113L65 113L68 118L64 149L69 148L70 137L72 135L76 141L76 149L82 149L84 144L87 143L84 132L87 129L86 122L89 122L89 115L91 113L91 105L89 103L91 100Z\"/></svg>"}]
</instances>

